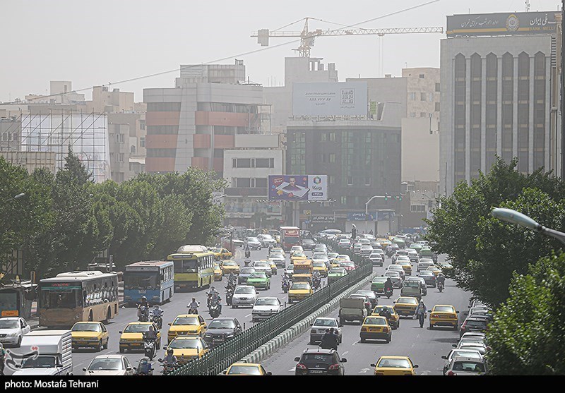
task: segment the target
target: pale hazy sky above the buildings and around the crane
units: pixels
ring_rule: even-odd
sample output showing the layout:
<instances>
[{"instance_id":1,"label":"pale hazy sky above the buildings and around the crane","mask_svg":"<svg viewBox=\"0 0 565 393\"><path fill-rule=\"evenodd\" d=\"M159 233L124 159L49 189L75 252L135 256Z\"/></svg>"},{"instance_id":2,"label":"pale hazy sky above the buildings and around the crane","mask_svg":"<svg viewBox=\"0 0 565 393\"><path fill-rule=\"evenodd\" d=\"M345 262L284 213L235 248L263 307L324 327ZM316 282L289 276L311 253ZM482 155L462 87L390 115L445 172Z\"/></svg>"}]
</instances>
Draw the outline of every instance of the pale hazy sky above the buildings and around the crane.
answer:
<instances>
[{"instance_id":1,"label":"pale hazy sky above the buildings and around the crane","mask_svg":"<svg viewBox=\"0 0 565 393\"><path fill-rule=\"evenodd\" d=\"M284 58L297 43L261 49L252 31L278 29L304 17L310 30L339 28L378 18L431 0L1 0L0 102L29 93L48 94L49 80L71 80L73 89L112 83L143 100L144 87L173 87L178 71L128 83L121 80L201 64L228 56L243 59L251 81L281 85ZM554 11L559 0L531 0L530 11ZM455 13L525 11L524 0L439 0L412 11L359 25L398 28L446 25ZM302 30L304 22L283 30ZM341 81L401 68L439 67L445 35L412 34L319 37L311 51L335 63ZM270 45L296 39L270 39ZM379 66L379 40L383 62ZM234 59L221 61L233 64ZM379 69L383 72L379 73ZM91 92L85 92L87 99Z\"/></svg>"}]
</instances>

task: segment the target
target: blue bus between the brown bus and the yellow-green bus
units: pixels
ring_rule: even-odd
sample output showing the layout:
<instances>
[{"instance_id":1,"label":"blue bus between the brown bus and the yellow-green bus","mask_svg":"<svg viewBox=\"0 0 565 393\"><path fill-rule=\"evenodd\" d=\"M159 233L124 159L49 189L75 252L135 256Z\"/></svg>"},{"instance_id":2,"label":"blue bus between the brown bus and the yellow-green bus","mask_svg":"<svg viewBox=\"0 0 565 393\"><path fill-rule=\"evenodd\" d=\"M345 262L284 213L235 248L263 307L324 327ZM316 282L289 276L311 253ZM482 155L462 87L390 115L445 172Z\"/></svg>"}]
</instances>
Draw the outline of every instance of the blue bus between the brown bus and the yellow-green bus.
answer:
<instances>
[{"instance_id":1,"label":"blue bus between the brown bus and the yellow-green bus","mask_svg":"<svg viewBox=\"0 0 565 393\"><path fill-rule=\"evenodd\" d=\"M124 302L135 306L145 296L153 304L170 301L174 294L172 261L135 262L124 268Z\"/></svg>"}]
</instances>

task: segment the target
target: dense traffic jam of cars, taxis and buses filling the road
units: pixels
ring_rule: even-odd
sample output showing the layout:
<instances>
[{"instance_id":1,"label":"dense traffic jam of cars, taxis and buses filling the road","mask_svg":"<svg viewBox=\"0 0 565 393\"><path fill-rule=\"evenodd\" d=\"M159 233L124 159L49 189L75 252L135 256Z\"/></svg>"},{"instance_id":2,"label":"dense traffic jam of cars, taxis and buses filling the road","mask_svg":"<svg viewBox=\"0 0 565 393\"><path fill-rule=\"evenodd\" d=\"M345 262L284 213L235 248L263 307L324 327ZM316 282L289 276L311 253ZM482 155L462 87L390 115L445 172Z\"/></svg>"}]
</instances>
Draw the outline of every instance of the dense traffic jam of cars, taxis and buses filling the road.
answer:
<instances>
[{"instance_id":1,"label":"dense traffic jam of cars, taxis and buses filling the road","mask_svg":"<svg viewBox=\"0 0 565 393\"><path fill-rule=\"evenodd\" d=\"M489 309L444 278L450 265L427 241L338 230L313 235L285 226L258 232L238 247L179 246L165 260L136 262L119 274L92 270L42 279L39 327L0 318L0 340L12 347L5 375L171 373L362 261L373 267L363 288L341 298L284 351L260 364L233 363L223 373L488 372ZM26 353L31 346L38 356Z\"/></svg>"}]
</instances>

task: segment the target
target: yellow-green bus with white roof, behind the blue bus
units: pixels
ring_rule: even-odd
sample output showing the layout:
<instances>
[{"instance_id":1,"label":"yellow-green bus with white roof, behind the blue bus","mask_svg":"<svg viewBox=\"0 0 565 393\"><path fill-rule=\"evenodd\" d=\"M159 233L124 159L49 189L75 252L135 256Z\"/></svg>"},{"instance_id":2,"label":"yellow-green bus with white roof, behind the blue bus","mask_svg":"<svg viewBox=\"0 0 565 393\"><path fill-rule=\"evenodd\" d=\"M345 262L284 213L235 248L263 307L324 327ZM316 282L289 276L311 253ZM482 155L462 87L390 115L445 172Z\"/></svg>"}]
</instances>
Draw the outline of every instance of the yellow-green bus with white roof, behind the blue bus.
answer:
<instances>
[{"instance_id":1,"label":"yellow-green bus with white roof, behind the blue bus","mask_svg":"<svg viewBox=\"0 0 565 393\"><path fill-rule=\"evenodd\" d=\"M174 264L174 289L198 289L214 282L214 254L204 246L181 246L167 256Z\"/></svg>"}]
</instances>

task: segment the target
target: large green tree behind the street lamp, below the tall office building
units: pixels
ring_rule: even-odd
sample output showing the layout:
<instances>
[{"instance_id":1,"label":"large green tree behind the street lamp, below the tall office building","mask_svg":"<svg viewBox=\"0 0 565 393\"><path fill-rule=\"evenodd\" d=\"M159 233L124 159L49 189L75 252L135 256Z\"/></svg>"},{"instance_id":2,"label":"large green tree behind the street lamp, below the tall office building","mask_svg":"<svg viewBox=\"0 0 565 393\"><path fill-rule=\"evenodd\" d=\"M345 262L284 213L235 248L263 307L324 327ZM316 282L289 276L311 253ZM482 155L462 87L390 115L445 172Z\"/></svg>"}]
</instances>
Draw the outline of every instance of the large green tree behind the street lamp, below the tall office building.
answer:
<instances>
[{"instance_id":1,"label":"large green tree behind the street lamp, below the tall office building","mask_svg":"<svg viewBox=\"0 0 565 393\"><path fill-rule=\"evenodd\" d=\"M556 229L563 226L564 182L543 169L521 174L516 164L517 159L509 164L497 159L487 175L480 174L469 186L459 183L453 195L439 198L441 207L426 220L434 250L452 260L446 275L492 306L508 297L513 272L525 273L528 263L559 247L557 241L499 222L490 214L492 207L530 213Z\"/></svg>"}]
</instances>

